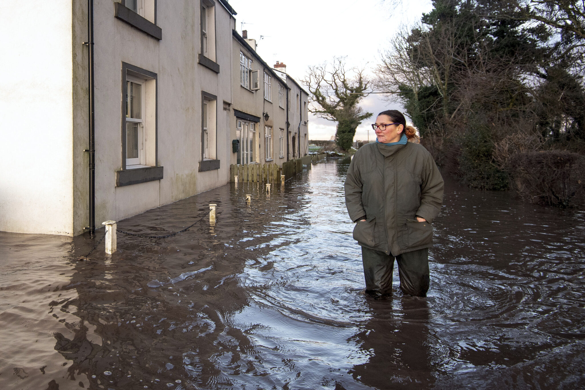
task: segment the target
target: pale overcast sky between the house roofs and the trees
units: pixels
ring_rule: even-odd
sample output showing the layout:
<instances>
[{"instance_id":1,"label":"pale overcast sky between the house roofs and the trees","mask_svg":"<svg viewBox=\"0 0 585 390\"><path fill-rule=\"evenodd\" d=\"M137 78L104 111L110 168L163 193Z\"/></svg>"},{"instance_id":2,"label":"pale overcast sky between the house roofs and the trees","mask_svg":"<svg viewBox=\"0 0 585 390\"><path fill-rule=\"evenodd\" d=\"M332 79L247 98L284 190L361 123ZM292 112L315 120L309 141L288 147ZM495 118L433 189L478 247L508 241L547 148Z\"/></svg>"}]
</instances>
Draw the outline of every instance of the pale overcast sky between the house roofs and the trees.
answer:
<instances>
[{"instance_id":1,"label":"pale overcast sky between the house roofs and the trees","mask_svg":"<svg viewBox=\"0 0 585 390\"><path fill-rule=\"evenodd\" d=\"M420 20L432 9L431 0L413 0L405 5L383 0L230 0L238 12L236 29L248 31L256 39L258 54L269 65L280 61L287 73L300 81L309 65L346 56L349 67L371 68L380 60L388 40L398 28ZM242 25L242 22L244 23ZM402 108L386 103L381 95L369 95L360 102L374 116L385 109ZM357 127L355 139L365 140L375 118ZM335 123L309 113L309 139L328 140L335 134ZM370 140L375 134L370 131Z\"/></svg>"}]
</instances>

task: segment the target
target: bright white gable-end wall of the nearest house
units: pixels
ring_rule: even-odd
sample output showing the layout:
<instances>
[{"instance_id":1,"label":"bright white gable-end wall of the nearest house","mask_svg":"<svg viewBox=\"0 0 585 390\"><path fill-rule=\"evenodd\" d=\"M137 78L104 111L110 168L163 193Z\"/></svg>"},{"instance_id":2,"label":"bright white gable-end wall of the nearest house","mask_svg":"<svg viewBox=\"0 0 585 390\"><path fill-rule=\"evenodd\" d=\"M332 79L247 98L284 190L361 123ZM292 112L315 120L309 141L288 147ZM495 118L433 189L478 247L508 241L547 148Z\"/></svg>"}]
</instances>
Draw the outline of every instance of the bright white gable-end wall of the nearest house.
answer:
<instances>
[{"instance_id":1,"label":"bright white gable-end wall of the nearest house","mask_svg":"<svg viewBox=\"0 0 585 390\"><path fill-rule=\"evenodd\" d=\"M71 1L0 6L0 230L74 233L71 26Z\"/></svg>"}]
</instances>

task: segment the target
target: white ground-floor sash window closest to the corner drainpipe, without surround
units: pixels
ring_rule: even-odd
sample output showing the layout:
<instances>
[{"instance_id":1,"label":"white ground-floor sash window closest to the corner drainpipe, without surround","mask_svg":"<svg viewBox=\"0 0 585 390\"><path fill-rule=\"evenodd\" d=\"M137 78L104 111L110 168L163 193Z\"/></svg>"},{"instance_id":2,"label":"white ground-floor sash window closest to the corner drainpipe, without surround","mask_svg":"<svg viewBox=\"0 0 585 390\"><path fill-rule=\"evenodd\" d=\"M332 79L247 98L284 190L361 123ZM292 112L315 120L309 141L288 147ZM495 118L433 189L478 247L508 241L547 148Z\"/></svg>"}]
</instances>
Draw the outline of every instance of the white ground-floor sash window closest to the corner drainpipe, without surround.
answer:
<instances>
[{"instance_id":1,"label":"white ground-floor sash window closest to the corner drainpipe, without surround","mask_svg":"<svg viewBox=\"0 0 585 390\"><path fill-rule=\"evenodd\" d=\"M145 163L142 86L126 77L126 167Z\"/></svg>"}]
</instances>

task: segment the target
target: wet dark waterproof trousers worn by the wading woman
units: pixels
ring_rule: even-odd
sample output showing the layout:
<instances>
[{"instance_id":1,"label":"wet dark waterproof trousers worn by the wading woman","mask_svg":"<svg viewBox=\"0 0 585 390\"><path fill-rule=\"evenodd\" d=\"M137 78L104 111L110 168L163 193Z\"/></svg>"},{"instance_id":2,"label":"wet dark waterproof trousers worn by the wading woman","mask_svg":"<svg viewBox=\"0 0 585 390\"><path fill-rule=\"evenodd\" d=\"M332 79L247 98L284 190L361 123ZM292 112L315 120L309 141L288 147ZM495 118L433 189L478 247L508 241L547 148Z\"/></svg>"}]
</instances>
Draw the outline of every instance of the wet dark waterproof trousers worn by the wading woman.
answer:
<instances>
[{"instance_id":1,"label":"wet dark waterproof trousers worn by the wading woman","mask_svg":"<svg viewBox=\"0 0 585 390\"><path fill-rule=\"evenodd\" d=\"M429 249L419 249L394 257L362 247L366 292L376 297L392 294L394 258L398 263L400 289L404 294L426 296L429 289Z\"/></svg>"}]
</instances>

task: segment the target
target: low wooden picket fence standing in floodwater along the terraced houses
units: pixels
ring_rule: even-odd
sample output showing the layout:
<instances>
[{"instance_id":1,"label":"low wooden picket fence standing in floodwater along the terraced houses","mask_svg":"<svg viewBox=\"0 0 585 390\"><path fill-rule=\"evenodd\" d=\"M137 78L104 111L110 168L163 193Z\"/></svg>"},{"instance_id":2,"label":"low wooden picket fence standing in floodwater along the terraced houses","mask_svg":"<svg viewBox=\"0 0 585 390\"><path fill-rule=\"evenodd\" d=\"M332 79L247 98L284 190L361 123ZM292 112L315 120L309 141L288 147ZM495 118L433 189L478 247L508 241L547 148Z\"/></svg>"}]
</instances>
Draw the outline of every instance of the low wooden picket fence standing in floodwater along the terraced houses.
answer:
<instances>
[{"instance_id":1,"label":"low wooden picket fence standing in floodwater along the terraced houses","mask_svg":"<svg viewBox=\"0 0 585 390\"><path fill-rule=\"evenodd\" d=\"M296 160L285 161L280 167L278 164L232 164L229 166L230 181L238 176L239 182L280 182L280 175L284 175L285 180L302 172L303 165L311 168L311 161L319 161L325 158L326 154L319 156L305 156Z\"/></svg>"}]
</instances>

